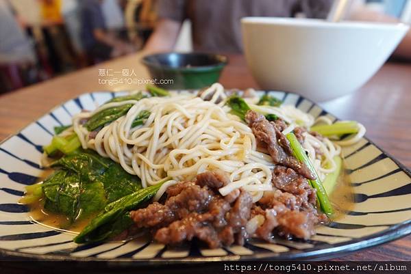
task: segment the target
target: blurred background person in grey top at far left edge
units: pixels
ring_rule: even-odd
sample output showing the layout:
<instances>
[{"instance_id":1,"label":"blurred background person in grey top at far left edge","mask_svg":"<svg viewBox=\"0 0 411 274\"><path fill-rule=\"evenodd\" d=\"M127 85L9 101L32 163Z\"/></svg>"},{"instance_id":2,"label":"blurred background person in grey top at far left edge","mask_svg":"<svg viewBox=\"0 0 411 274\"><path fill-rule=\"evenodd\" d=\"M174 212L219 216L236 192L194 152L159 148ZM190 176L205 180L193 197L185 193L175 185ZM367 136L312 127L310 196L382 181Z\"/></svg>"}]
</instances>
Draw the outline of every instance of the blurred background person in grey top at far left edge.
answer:
<instances>
[{"instance_id":1,"label":"blurred background person in grey top at far left edge","mask_svg":"<svg viewBox=\"0 0 411 274\"><path fill-rule=\"evenodd\" d=\"M36 82L36 55L6 0L0 0L0 93Z\"/></svg>"}]
</instances>

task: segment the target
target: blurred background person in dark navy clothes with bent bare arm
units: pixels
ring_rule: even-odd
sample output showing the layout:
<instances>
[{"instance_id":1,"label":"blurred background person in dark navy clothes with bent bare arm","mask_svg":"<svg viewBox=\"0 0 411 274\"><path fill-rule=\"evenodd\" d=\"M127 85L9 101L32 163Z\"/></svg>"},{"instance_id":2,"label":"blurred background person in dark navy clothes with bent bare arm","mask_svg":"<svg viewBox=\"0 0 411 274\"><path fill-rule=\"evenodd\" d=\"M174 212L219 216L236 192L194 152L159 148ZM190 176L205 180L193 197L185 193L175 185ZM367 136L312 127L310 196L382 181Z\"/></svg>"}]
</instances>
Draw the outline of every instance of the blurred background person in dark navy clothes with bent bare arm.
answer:
<instances>
[{"instance_id":1,"label":"blurred background person in dark navy clothes with bent bare arm","mask_svg":"<svg viewBox=\"0 0 411 274\"><path fill-rule=\"evenodd\" d=\"M134 46L119 40L106 25L102 0L80 1L82 42L84 49L97 63L135 51Z\"/></svg>"}]
</instances>

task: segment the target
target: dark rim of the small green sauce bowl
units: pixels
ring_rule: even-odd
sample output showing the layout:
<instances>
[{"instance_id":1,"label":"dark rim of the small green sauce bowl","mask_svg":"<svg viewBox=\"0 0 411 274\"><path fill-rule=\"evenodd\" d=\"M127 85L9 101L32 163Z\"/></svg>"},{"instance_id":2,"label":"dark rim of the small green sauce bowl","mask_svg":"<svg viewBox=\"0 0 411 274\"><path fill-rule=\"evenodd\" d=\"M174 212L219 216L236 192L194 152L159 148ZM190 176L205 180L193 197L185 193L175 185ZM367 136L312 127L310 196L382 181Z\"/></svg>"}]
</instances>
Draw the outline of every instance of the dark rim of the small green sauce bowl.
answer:
<instances>
[{"instance_id":1,"label":"dark rim of the small green sauce bowl","mask_svg":"<svg viewBox=\"0 0 411 274\"><path fill-rule=\"evenodd\" d=\"M203 56L208 56L212 57L213 59L216 59L216 64L208 65L208 66L190 66L190 67L173 67L173 66L168 66L168 65L162 65L158 63L153 63L149 61L149 57L158 57L161 55L203 55ZM148 54L143 56L140 59L141 63L147 66L147 68L158 68L161 70L169 70L169 71L182 71L182 72L192 72L192 71L197 71L197 72L205 72L209 70L215 70L216 68L223 68L225 65L228 64L228 57L226 55L222 55L220 53L205 53L205 52L191 52L191 53L180 53L177 51L169 51L169 52L164 52L164 53L153 53L153 54Z\"/></svg>"}]
</instances>

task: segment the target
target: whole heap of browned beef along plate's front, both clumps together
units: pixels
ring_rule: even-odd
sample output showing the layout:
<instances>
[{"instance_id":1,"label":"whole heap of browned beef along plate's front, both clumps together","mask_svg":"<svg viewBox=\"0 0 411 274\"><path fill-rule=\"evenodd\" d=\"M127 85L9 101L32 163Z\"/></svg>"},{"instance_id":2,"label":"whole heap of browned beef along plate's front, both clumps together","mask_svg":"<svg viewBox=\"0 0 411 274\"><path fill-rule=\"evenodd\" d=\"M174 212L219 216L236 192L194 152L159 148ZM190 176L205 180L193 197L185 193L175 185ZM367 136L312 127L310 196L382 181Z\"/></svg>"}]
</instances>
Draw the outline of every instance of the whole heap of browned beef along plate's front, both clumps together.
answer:
<instances>
[{"instance_id":1,"label":"whole heap of browned beef along plate's front, both clumps together","mask_svg":"<svg viewBox=\"0 0 411 274\"><path fill-rule=\"evenodd\" d=\"M308 239L314 225L326 219L316 212L315 190L293 169L275 167L275 190L266 191L256 204L247 191L239 189L223 197L218 189L228 182L227 174L219 170L199 174L192 182L179 182L167 189L164 204L153 202L132 211L134 228L149 228L154 240L163 244L198 238L216 248L243 245L251 236L264 241L273 241L275 235ZM257 215L264 221L249 235L247 222Z\"/></svg>"}]
</instances>

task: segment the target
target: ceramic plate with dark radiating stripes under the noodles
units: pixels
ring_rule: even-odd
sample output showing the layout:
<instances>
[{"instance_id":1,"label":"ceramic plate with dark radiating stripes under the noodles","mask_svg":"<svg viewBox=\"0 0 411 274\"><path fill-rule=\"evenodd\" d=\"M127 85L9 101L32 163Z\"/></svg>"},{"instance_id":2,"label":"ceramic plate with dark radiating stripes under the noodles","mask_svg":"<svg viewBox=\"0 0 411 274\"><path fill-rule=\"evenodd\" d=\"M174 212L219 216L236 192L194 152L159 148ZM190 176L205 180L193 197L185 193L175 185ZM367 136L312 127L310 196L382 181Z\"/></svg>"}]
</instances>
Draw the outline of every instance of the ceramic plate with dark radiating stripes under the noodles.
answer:
<instances>
[{"instance_id":1,"label":"ceramic plate with dark radiating stripes under the noodles","mask_svg":"<svg viewBox=\"0 0 411 274\"><path fill-rule=\"evenodd\" d=\"M296 105L314 117L326 113L297 94L270 92L285 104ZM42 174L38 163L42 146L49 143L53 127L71 123L82 109L92 110L113 96L112 92L83 94L56 107L0 145L0 250L5 256L62 260L273 260L314 259L339 256L347 251L392 241L411 232L410 171L362 139L343 149L346 172L354 192L354 204L338 221L319 226L310 241L262 243L244 247L207 249L196 241L178 249L151 243L147 238L126 242L76 245L72 234L34 223L29 209L18 204L24 187Z\"/></svg>"}]
</instances>

